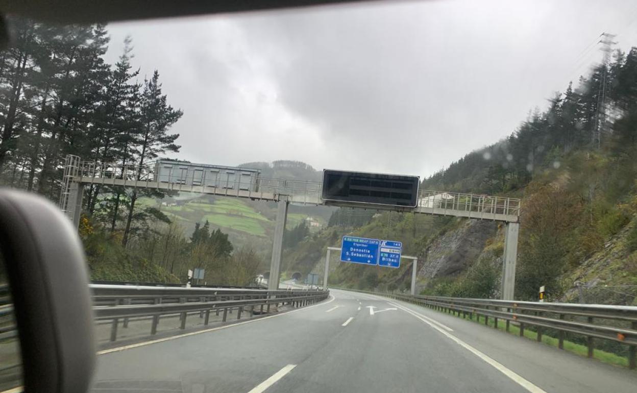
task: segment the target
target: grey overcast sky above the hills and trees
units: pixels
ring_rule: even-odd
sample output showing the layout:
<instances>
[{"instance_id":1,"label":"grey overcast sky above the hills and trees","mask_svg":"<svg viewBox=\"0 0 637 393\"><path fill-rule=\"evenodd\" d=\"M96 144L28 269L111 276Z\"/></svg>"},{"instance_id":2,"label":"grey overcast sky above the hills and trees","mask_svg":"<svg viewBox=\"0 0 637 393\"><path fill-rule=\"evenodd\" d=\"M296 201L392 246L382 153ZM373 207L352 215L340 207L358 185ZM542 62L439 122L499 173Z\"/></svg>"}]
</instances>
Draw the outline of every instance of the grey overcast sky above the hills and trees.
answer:
<instances>
[{"instance_id":1,"label":"grey overcast sky above the hills and trees","mask_svg":"<svg viewBox=\"0 0 637 393\"><path fill-rule=\"evenodd\" d=\"M112 24L184 112L178 157L429 176L637 45L634 0L438 0Z\"/></svg>"}]
</instances>

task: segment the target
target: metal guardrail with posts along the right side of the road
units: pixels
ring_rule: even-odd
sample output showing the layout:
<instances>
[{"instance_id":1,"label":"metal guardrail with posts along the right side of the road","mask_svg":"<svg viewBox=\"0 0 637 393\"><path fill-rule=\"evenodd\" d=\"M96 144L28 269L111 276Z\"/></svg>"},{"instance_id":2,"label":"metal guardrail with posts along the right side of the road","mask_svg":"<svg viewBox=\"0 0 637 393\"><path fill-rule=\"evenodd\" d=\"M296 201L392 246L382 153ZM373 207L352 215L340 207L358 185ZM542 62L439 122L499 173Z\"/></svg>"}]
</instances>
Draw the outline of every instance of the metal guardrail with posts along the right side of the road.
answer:
<instances>
[{"instance_id":1,"label":"metal guardrail with posts along the right side of the road","mask_svg":"<svg viewBox=\"0 0 637 393\"><path fill-rule=\"evenodd\" d=\"M484 317L487 325L489 318L493 318L496 329L498 320L504 320L505 330L510 331L510 324L516 324L519 326L520 336L524 336L525 327L533 326L537 332L537 341L541 341L543 329L554 329L557 331L560 349L564 349L566 332L580 334L586 338L588 357L593 355L594 339L616 341L629 346L628 367L634 369L637 366L637 307L634 306L537 303L354 291L419 304L438 311L457 313L463 318L473 318L473 314L476 314Z\"/></svg>"}]
</instances>

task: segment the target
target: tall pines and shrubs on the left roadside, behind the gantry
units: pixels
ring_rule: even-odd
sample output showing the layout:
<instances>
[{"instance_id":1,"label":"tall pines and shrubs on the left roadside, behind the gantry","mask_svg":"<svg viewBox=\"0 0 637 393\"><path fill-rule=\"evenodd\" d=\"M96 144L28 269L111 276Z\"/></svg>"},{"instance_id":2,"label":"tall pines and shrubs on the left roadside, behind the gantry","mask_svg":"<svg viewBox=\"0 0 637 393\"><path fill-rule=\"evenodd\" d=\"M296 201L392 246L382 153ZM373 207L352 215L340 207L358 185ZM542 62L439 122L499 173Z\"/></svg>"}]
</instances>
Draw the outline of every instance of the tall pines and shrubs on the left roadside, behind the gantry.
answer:
<instances>
[{"instance_id":1,"label":"tall pines and shrubs on the left roadside, behind the gantry","mask_svg":"<svg viewBox=\"0 0 637 393\"><path fill-rule=\"evenodd\" d=\"M183 113L168 103L157 69L133 68L131 38L108 64L104 25L8 24L13 42L0 53L2 185L57 202L68 154L141 167L179 151L171 130ZM161 196L106 185L85 190L80 234L92 278L175 282L189 268L216 264L234 269L211 274L217 283L249 281L243 270L254 273L254 252L233 252L227 235L209 232L207 223L187 238L157 206L140 203Z\"/></svg>"}]
</instances>

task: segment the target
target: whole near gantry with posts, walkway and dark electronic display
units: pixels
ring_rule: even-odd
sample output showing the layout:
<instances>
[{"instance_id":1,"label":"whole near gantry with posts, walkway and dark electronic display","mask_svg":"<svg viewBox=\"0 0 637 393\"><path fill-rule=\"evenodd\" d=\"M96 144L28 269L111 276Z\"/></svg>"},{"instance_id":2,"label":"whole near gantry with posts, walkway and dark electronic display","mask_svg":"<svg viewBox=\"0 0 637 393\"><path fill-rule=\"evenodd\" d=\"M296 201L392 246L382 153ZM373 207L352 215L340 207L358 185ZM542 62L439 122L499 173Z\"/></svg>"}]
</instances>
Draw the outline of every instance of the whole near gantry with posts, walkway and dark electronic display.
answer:
<instances>
[{"instance_id":1,"label":"whole near gantry with posts, walkway and dark electronic display","mask_svg":"<svg viewBox=\"0 0 637 393\"><path fill-rule=\"evenodd\" d=\"M513 299L520 199L419 190L419 184L417 176L383 173L329 169L324 171L322 182L313 182L264 178L258 170L248 168L179 161L159 161L148 166L122 166L108 162L87 162L76 155L68 155L64 166L60 208L77 226L80 222L85 185L197 192L276 202L278 206L269 289L278 289L289 203L327 204L505 222L502 297ZM384 257L386 260L382 262L387 263L387 266L395 263L393 255Z\"/></svg>"}]
</instances>

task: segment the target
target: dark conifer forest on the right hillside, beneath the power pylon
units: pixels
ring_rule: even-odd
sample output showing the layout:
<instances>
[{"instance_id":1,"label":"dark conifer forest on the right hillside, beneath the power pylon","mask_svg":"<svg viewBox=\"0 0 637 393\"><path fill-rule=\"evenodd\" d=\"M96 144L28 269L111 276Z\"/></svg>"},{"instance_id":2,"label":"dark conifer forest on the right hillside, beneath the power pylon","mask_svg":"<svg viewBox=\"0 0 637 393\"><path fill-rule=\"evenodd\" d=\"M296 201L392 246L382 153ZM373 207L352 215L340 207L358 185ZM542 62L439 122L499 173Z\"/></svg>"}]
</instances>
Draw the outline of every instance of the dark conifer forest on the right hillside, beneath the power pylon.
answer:
<instances>
[{"instance_id":1,"label":"dark conifer forest on the right hillside, beneath the power pylon","mask_svg":"<svg viewBox=\"0 0 637 393\"><path fill-rule=\"evenodd\" d=\"M541 169L559 168L569 152L590 150L633 157L637 120L637 48L617 50L608 64L569 83L548 109L529 112L508 138L471 152L423 182L427 189L498 193L517 190ZM604 115L605 114L605 115ZM594 130L601 132L601 146Z\"/></svg>"}]
</instances>

